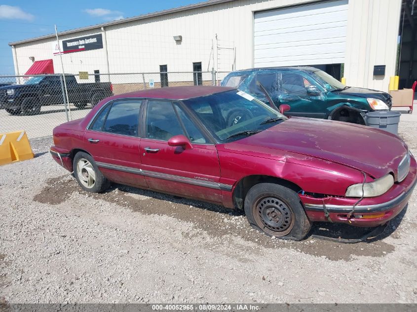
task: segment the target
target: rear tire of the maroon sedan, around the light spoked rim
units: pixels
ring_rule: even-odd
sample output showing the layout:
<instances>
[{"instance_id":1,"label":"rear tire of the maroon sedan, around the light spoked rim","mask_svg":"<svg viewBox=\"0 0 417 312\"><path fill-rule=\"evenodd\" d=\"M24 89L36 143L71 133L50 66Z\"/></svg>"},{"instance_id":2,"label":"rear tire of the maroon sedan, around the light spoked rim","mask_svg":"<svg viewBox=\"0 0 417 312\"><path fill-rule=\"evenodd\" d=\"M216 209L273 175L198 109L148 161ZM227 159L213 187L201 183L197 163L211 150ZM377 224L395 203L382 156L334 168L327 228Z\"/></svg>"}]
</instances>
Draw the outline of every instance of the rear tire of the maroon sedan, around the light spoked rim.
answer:
<instances>
[{"instance_id":1,"label":"rear tire of the maroon sedan, around the light spoked rim","mask_svg":"<svg viewBox=\"0 0 417 312\"><path fill-rule=\"evenodd\" d=\"M91 169L94 172L94 184L91 185L90 187L87 186L88 184L87 180L89 180L89 177L91 177L92 175L91 175L91 171L89 169L87 170L87 167L81 166L81 165L85 165L84 161L87 161L91 164ZM78 167L77 167L78 164L80 165L81 170L78 170ZM111 182L98 169L96 163L94 162L93 157L87 153L84 153L84 152L76 153L76 156L74 157L74 160L73 160L73 169L74 169L74 176L76 177L76 180L79 186L81 186L81 188L84 191L91 192L91 193L101 193L107 190L111 185Z\"/></svg>"}]
</instances>

